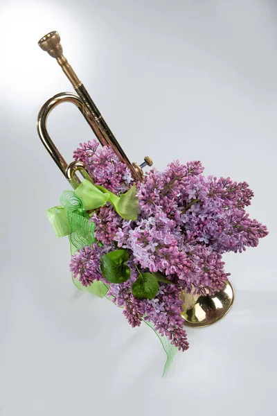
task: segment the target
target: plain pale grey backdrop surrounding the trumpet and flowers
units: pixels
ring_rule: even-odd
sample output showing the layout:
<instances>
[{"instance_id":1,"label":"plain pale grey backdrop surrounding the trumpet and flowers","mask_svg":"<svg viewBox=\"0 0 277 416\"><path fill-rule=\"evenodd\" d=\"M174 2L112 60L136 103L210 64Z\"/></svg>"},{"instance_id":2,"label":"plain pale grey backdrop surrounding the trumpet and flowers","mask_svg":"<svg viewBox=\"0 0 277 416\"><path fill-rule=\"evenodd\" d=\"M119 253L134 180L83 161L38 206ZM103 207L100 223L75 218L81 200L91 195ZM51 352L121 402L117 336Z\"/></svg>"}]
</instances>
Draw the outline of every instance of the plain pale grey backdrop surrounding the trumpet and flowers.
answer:
<instances>
[{"instance_id":1,"label":"plain pale grey backdrop surrounding the trumpet and flowers","mask_svg":"<svg viewBox=\"0 0 277 416\"><path fill-rule=\"evenodd\" d=\"M226 254L229 315L165 354L107 300L79 293L45 211L67 184L36 117L71 90L37 46L51 30L129 158L201 159L249 182L270 234ZM276 1L1 1L0 414L276 415ZM48 121L69 161L92 133L71 105Z\"/></svg>"}]
</instances>

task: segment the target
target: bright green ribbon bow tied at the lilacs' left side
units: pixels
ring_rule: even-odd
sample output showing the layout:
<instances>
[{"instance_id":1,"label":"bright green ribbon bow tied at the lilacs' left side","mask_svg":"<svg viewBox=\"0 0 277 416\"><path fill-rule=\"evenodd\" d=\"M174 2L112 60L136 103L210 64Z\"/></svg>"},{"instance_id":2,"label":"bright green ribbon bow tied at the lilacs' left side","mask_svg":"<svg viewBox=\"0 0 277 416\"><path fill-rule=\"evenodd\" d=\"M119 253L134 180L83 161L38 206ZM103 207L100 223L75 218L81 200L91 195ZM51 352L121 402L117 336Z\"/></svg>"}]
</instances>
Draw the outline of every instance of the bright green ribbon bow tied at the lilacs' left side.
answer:
<instances>
[{"instance_id":1,"label":"bright green ribbon bow tied at the lilacs' left side","mask_svg":"<svg viewBox=\"0 0 277 416\"><path fill-rule=\"evenodd\" d=\"M125 220L136 220L139 210L139 198L136 186L126 193L116 196L100 185L94 185L84 179L75 191L64 191L60 197L61 205L48 209L47 216L57 237L69 235L77 250L91 245L95 240L95 223L89 220L87 211L102 207L107 202Z\"/></svg>"}]
</instances>

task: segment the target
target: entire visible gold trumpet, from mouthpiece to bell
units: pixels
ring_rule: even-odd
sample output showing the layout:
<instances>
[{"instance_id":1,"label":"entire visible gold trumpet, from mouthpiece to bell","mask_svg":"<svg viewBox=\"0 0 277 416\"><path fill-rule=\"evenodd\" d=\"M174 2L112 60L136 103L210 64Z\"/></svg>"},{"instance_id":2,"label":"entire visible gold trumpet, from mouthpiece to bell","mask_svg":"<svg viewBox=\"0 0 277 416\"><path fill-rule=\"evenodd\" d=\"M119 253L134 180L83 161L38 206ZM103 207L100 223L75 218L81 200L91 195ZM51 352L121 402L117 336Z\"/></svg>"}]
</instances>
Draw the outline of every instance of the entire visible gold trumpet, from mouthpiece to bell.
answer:
<instances>
[{"instance_id":1,"label":"entire visible gold trumpet, from mouthpiece to bell","mask_svg":"<svg viewBox=\"0 0 277 416\"><path fill-rule=\"evenodd\" d=\"M67 164L59 150L57 150L55 144L53 144L46 129L46 121L50 112L57 105L66 102L73 103L78 107L80 112L82 112L84 119L86 119L100 141L100 144L102 144L102 146L111 146L111 148L113 148L118 158L125 163L131 171L134 180L136 180L136 182L143 180L142 168L147 165L152 166L152 160L150 157L145 156L144 162L141 165L129 161L98 108L93 103L87 89L85 89L83 83L79 80L75 71L73 71L73 68L64 57L62 45L60 44L60 35L56 31L50 32L42 37L38 44L43 51L48 52L49 55L57 60L57 63L60 65L62 71L64 71L66 77L69 79L77 93L61 92L60 94L56 94L42 106L37 118L37 132L39 137L71 186L75 189L78 187L78 184L80 184L79 178L75 175L76 171L80 171L83 177L89 177L87 168L81 162L71 162L71 164ZM213 296L208 294L206 296L193 296L184 291L181 297L184 301L184 313L182 313L184 324L190 327L206 327L213 322L217 322L217 320L220 320L226 315L233 304L234 294L231 284L227 281L224 289Z\"/></svg>"}]
</instances>

